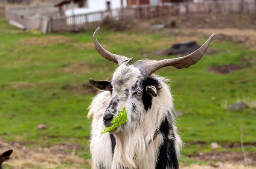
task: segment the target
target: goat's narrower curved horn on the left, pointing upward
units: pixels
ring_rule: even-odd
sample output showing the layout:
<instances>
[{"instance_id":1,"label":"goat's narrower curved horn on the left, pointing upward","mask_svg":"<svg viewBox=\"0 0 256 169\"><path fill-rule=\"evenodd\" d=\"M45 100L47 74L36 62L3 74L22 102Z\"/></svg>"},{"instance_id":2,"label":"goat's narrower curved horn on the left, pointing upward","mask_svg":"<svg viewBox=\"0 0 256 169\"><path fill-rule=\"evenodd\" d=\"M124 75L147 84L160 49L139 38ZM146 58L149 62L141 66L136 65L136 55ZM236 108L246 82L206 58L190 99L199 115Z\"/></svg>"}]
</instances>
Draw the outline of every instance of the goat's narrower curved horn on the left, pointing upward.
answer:
<instances>
[{"instance_id":1,"label":"goat's narrower curved horn on the left, pointing upward","mask_svg":"<svg viewBox=\"0 0 256 169\"><path fill-rule=\"evenodd\" d=\"M97 33L99 31L99 28L98 27L96 29L96 31L94 32L93 34L93 43L94 43L94 47L96 48L96 50L99 52L99 54L103 57L105 57L106 59L114 62L114 63L118 63L118 65L121 65L123 62L125 61L128 61L129 58L125 57L125 56L119 56L119 55L116 55L116 54L112 54L110 53L109 51L105 50L104 48L102 48L102 46L99 44L96 36L97 36ZM129 61L129 63L131 62L131 60Z\"/></svg>"}]
</instances>

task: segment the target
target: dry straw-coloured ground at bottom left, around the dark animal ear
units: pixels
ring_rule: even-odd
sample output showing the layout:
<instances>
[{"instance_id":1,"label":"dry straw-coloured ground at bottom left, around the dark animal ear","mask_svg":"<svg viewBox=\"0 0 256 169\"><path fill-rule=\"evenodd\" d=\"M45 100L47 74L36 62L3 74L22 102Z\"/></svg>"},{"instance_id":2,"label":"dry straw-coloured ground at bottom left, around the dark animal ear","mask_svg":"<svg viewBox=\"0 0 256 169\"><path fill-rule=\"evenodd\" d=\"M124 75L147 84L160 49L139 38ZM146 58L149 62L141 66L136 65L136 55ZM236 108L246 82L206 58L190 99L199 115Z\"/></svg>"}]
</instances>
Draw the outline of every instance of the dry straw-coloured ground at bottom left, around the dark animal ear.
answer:
<instances>
[{"instance_id":1,"label":"dry straw-coloured ground at bottom left, around the dark animal ear","mask_svg":"<svg viewBox=\"0 0 256 169\"><path fill-rule=\"evenodd\" d=\"M13 149L11 159L6 161L7 164L14 169L22 168L55 168L63 164L72 164L74 167L81 164L90 164L89 160L81 159L75 155L75 151L81 148L77 144L63 143L54 146L28 148L26 145L20 145L19 143L9 144L0 142L0 152L4 152L9 149ZM63 151L59 151L62 149ZM70 153L64 152L64 150L71 150Z\"/></svg>"}]
</instances>

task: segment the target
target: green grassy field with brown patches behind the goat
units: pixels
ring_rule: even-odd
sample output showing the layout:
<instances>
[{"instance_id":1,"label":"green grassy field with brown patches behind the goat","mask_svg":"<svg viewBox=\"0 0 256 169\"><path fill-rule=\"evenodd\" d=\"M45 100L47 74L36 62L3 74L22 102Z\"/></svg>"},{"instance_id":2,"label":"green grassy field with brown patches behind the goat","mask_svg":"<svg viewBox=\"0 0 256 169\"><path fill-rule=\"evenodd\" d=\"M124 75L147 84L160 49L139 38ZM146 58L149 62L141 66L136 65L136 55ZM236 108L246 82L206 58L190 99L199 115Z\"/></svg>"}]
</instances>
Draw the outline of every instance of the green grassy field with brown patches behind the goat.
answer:
<instances>
[{"instance_id":1,"label":"green grassy field with brown patches behind the goat","mask_svg":"<svg viewBox=\"0 0 256 169\"><path fill-rule=\"evenodd\" d=\"M6 166L90 168L91 119L86 116L87 107L95 95L83 84L89 78L111 79L117 66L97 53L93 46L93 31L33 34L0 19L0 150L7 147L16 150L13 161L6 162ZM104 28L100 31L98 40L104 48L134 57L134 62L143 57L165 59L166 56L152 53L175 42L195 38L113 33ZM198 39L199 44L206 39ZM256 51L245 45L215 40L210 47L221 52L206 54L188 69L162 68L157 71L171 79L175 109L184 113L177 120L177 127L185 143L180 159L185 166L207 163L206 158L198 157L199 152L206 156L233 152L243 157L241 127L244 150L256 159ZM244 65L245 68L229 74L207 71L211 66L229 64ZM227 111L228 105L239 100L246 100L249 107ZM36 130L39 124L47 125L47 129ZM212 150L212 142L217 142L221 148ZM29 158L25 158L26 155ZM217 156L217 161L222 157ZM243 161L243 158L239 160Z\"/></svg>"}]
</instances>

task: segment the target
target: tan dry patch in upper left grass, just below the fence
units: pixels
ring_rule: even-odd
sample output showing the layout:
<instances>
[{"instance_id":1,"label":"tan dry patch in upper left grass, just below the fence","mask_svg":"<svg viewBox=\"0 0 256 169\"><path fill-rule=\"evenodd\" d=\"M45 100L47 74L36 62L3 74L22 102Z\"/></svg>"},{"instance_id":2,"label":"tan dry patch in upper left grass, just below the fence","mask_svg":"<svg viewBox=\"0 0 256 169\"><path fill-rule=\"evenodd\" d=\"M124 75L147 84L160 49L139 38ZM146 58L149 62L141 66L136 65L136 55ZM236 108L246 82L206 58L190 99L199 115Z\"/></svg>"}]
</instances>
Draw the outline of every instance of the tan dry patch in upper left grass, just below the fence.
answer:
<instances>
[{"instance_id":1,"label":"tan dry patch in upper left grass, just below the fence","mask_svg":"<svg viewBox=\"0 0 256 169\"><path fill-rule=\"evenodd\" d=\"M20 40L21 43L24 43L29 46L41 46L41 47L48 47L51 45L56 44L65 44L65 43L72 43L76 42L76 38L74 37L65 37L65 36L45 36L45 37L33 37L33 38L26 38Z\"/></svg>"}]
</instances>

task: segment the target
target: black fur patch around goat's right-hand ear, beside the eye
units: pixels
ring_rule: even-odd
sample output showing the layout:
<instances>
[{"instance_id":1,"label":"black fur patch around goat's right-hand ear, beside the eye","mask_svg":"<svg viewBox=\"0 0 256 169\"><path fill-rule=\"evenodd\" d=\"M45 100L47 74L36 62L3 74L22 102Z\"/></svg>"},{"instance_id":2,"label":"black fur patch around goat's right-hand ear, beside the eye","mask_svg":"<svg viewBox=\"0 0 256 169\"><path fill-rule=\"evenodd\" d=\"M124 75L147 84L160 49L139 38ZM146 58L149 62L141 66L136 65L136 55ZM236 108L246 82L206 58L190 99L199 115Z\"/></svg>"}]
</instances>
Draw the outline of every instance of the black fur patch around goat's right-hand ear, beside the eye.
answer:
<instances>
[{"instance_id":1,"label":"black fur patch around goat's right-hand ear, beside the eye","mask_svg":"<svg viewBox=\"0 0 256 169\"><path fill-rule=\"evenodd\" d=\"M146 80L142 82L142 85L143 85L142 101L143 101L145 110L148 111L148 108L150 109L152 105L152 97L146 91L146 87L154 86L156 87L157 93L158 93L160 90L159 82L156 79L148 77Z\"/></svg>"}]
</instances>

